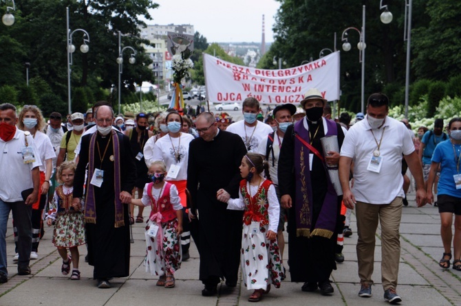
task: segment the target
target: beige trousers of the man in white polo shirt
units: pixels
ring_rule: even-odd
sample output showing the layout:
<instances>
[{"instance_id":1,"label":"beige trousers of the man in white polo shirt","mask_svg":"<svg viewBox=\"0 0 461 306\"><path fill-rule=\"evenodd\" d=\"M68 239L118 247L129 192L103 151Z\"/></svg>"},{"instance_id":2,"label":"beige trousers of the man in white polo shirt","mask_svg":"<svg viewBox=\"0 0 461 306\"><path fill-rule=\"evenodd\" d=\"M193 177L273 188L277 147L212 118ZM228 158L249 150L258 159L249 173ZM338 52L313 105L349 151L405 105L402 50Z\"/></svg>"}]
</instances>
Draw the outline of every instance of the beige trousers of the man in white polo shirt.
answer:
<instances>
[{"instance_id":1,"label":"beige trousers of the man in white polo shirt","mask_svg":"<svg viewBox=\"0 0 461 306\"><path fill-rule=\"evenodd\" d=\"M361 282L372 284L374 268L374 246L378 221L381 225L381 274L384 290L397 287L398 265L400 263L400 219L402 198L395 198L390 204L369 204L357 202L357 259L358 276Z\"/></svg>"}]
</instances>

